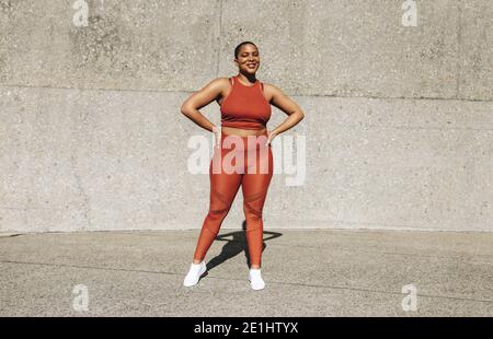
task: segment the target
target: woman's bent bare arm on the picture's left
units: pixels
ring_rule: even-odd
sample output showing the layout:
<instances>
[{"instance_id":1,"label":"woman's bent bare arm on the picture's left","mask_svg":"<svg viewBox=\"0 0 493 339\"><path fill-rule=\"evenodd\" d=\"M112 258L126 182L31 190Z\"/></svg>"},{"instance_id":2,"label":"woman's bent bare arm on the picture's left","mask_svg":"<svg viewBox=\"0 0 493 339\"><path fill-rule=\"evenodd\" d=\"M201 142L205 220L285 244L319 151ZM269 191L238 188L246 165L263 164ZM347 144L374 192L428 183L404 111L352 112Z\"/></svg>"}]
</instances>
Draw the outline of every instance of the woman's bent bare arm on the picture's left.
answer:
<instances>
[{"instance_id":1,"label":"woman's bent bare arm on the picture's left","mask_svg":"<svg viewBox=\"0 0 493 339\"><path fill-rule=\"evenodd\" d=\"M181 107L183 115L210 132L214 132L216 126L210 122L198 109L207 106L221 94L222 82L222 78L213 80L205 87L194 92L194 94L192 94Z\"/></svg>"}]
</instances>

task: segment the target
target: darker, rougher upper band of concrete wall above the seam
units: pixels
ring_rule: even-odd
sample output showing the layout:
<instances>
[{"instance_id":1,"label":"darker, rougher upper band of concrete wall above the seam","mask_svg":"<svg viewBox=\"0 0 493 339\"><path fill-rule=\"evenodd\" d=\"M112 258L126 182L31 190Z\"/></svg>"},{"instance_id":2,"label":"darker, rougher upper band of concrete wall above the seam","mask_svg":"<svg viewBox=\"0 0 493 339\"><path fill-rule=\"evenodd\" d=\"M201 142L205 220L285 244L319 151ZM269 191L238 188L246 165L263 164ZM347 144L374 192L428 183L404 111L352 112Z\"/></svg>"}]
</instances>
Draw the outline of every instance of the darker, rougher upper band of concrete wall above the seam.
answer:
<instances>
[{"instance_id":1,"label":"darker, rougher upper band of concrete wall above the seam","mask_svg":"<svg viewBox=\"0 0 493 339\"><path fill-rule=\"evenodd\" d=\"M298 95L492 100L493 4L403 0L0 1L9 85L195 91L257 42L262 78Z\"/></svg>"}]
</instances>

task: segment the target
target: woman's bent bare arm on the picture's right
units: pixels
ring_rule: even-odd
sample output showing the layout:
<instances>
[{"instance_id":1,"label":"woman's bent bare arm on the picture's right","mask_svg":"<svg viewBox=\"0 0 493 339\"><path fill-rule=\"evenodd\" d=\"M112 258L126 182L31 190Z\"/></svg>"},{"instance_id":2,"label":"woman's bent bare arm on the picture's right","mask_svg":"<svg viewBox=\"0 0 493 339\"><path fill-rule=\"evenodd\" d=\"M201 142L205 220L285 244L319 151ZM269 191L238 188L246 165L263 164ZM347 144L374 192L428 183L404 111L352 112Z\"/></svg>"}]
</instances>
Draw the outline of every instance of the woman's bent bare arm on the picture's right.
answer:
<instances>
[{"instance_id":1,"label":"woman's bent bare arm on the picture's right","mask_svg":"<svg viewBox=\"0 0 493 339\"><path fill-rule=\"evenodd\" d=\"M272 95L271 104L288 115L287 119L284 120L283 124L268 132L267 143L270 143L276 136L293 128L299 121L301 121L305 118L305 113L301 110L298 104L289 98L286 94L284 94L280 89L272 84L264 85L266 92L268 91Z\"/></svg>"}]
</instances>

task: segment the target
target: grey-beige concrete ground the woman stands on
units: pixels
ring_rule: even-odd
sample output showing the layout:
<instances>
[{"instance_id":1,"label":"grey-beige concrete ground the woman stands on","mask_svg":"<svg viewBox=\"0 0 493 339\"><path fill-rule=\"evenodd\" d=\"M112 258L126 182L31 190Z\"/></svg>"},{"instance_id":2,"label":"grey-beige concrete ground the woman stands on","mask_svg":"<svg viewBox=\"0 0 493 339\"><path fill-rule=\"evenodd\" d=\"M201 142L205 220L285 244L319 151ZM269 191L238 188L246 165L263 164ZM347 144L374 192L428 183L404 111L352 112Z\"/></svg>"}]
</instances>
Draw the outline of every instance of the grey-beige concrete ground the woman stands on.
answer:
<instances>
[{"instance_id":1,"label":"grey-beige concrete ground the woman stands on","mask_svg":"<svg viewBox=\"0 0 493 339\"><path fill-rule=\"evenodd\" d=\"M246 244L222 230L208 274L182 287L196 231L0 237L2 316L493 316L493 234L275 230L266 288L248 282ZM88 309L73 300L88 291ZM405 285L416 311L403 311Z\"/></svg>"}]
</instances>

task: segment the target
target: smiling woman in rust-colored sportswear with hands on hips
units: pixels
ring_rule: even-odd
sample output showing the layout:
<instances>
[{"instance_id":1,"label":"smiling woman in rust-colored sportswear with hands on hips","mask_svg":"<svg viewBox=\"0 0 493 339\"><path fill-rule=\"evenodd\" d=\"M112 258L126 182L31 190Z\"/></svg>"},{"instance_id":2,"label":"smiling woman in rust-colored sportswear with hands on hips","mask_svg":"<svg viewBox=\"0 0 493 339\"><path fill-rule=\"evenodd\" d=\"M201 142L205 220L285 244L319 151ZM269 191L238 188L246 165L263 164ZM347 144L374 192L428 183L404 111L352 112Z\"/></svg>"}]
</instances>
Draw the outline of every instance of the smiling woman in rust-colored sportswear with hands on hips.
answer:
<instances>
[{"instance_id":1,"label":"smiling woman in rust-colored sportswear with hands on hips","mask_svg":"<svg viewBox=\"0 0 493 339\"><path fill-rule=\"evenodd\" d=\"M246 221L250 285L253 290L262 290L265 287L261 274L262 210L273 175L271 141L305 117L300 107L278 87L256 80L260 56L255 44L243 42L238 45L234 49L234 63L238 66L237 75L213 80L191 95L181 107L186 117L214 132L216 139L209 166L209 211L204 220L193 262L183 282L185 287L195 285L207 270L204 257L216 238L240 186ZM213 101L217 101L220 106L220 127L211 124L198 112ZM277 128L267 130L271 104L286 113L288 118ZM227 164L226 160L230 160L230 163ZM260 168L256 164L260 164Z\"/></svg>"}]
</instances>

